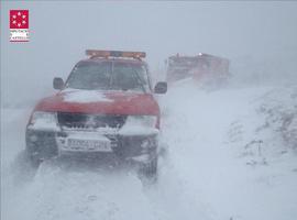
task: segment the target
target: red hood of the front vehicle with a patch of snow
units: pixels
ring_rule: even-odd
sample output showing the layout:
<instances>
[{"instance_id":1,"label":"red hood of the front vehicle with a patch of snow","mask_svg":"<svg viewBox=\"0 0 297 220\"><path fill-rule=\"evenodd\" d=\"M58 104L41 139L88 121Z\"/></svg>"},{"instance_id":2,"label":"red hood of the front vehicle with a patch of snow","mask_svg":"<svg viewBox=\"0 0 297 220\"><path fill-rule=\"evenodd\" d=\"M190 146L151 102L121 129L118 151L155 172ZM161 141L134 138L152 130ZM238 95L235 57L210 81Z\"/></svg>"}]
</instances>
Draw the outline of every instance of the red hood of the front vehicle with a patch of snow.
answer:
<instances>
[{"instance_id":1,"label":"red hood of the front vehicle with a patch of snow","mask_svg":"<svg viewBox=\"0 0 297 220\"><path fill-rule=\"evenodd\" d=\"M36 111L84 112L103 114L160 114L152 94L65 89L44 98Z\"/></svg>"}]
</instances>

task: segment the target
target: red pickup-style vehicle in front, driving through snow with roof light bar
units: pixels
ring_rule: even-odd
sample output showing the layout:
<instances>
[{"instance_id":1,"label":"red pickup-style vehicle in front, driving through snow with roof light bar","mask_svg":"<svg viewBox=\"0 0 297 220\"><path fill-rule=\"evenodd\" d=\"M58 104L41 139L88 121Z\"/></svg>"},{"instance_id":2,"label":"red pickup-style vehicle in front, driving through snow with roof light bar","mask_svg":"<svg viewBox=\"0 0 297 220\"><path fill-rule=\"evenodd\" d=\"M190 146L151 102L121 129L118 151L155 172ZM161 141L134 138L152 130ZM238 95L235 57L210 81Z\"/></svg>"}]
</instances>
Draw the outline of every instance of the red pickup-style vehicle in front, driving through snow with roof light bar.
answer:
<instances>
[{"instance_id":1,"label":"red pickup-style vehicle in front, driving through snow with roof light bar","mask_svg":"<svg viewBox=\"0 0 297 220\"><path fill-rule=\"evenodd\" d=\"M146 175L157 172L160 107L145 53L88 50L59 91L42 99L26 125L26 153L38 166L44 160L78 156L133 162Z\"/></svg>"}]
</instances>

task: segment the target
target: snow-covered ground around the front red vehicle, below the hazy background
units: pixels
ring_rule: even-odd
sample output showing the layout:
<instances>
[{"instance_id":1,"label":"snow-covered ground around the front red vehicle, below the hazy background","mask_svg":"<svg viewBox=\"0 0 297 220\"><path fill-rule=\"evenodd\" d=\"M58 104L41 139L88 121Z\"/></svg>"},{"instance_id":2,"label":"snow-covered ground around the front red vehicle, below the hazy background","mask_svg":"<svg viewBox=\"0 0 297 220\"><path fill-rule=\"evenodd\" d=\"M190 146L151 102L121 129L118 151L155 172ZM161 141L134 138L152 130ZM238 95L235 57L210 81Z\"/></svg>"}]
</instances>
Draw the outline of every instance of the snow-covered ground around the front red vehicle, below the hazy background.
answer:
<instances>
[{"instance_id":1,"label":"snow-covered ground around the front red vehicle, below the hazy background","mask_svg":"<svg viewBox=\"0 0 297 220\"><path fill-rule=\"evenodd\" d=\"M297 87L201 89L158 97L168 152L154 186L133 172L22 162L30 109L1 109L3 220L295 220Z\"/></svg>"}]
</instances>

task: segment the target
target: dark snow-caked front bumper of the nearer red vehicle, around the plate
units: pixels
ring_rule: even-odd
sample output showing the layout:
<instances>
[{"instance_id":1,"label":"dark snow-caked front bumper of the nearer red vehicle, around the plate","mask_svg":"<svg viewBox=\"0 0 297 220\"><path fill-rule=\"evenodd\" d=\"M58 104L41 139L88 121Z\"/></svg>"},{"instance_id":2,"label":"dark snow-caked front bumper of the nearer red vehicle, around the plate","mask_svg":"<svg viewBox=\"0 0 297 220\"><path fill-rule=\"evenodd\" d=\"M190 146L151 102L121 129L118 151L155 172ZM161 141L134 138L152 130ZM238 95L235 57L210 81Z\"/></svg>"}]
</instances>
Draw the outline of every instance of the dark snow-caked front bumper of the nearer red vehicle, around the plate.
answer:
<instances>
[{"instance_id":1,"label":"dark snow-caked front bumper of the nearer red vehicle, around the plate","mask_svg":"<svg viewBox=\"0 0 297 220\"><path fill-rule=\"evenodd\" d=\"M30 156L38 160L47 160L55 156L75 157L112 157L120 161L150 162L157 156L157 134L147 135L121 135L117 133L102 134L110 141L111 152L91 151L65 151L67 140L73 134L84 136L86 132L75 131L45 131L26 129L26 152Z\"/></svg>"}]
</instances>

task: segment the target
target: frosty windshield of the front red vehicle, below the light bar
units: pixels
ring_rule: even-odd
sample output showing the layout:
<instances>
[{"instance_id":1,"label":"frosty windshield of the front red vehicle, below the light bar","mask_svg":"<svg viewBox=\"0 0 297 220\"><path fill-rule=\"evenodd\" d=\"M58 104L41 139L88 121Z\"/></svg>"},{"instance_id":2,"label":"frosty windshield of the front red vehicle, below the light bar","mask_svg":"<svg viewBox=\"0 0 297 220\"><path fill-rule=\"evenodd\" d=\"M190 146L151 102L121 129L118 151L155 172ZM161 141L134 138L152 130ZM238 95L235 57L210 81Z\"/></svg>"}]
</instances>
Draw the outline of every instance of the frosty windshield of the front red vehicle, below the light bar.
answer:
<instances>
[{"instance_id":1,"label":"frosty windshield of the front red vehicle, below the light bar","mask_svg":"<svg viewBox=\"0 0 297 220\"><path fill-rule=\"evenodd\" d=\"M80 62L66 82L67 88L88 90L148 91L146 68L120 62Z\"/></svg>"}]
</instances>

